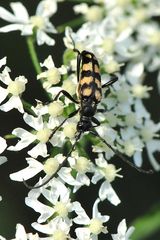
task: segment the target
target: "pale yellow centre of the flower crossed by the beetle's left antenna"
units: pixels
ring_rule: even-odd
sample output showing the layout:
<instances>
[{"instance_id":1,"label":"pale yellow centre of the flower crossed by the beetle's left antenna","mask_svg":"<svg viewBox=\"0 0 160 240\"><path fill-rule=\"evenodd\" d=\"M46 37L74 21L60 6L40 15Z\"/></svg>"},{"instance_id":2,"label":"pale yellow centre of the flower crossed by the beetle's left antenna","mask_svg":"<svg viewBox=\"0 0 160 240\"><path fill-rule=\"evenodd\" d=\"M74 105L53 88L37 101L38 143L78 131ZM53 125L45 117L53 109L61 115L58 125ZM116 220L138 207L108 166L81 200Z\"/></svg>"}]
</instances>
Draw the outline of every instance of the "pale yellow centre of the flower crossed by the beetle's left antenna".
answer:
<instances>
[{"instance_id":1,"label":"pale yellow centre of the flower crossed by the beetle's left antenna","mask_svg":"<svg viewBox=\"0 0 160 240\"><path fill-rule=\"evenodd\" d=\"M44 164L44 172L51 176L52 174L54 174L55 172L57 172L59 168L59 162L56 158L48 158Z\"/></svg>"}]
</instances>

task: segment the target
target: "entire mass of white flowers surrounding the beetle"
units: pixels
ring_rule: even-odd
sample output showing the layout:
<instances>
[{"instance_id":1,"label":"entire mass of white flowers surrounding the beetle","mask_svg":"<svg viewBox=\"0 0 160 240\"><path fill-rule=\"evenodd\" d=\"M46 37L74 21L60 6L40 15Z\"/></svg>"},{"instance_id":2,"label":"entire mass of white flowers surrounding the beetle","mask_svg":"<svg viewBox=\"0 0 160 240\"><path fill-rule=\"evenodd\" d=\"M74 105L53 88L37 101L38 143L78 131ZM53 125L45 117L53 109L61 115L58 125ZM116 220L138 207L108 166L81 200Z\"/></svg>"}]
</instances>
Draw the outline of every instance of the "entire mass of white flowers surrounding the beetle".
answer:
<instances>
[{"instance_id":1,"label":"entire mass of white flowers surrounding the beetle","mask_svg":"<svg viewBox=\"0 0 160 240\"><path fill-rule=\"evenodd\" d=\"M0 7L0 18L11 23L0 27L0 32L20 30L21 35L35 38L38 45L55 44L48 34L57 33L50 18L57 12L58 0L40 1L31 17L22 3L14 2L10 6L13 13ZM110 233L106 223L112 217L103 215L99 205L102 201L109 201L114 206L121 202L112 187L116 177L123 177L119 173L121 169L110 163L114 153L133 158L139 168L146 149L151 166L160 170L154 156L160 149L160 123L152 120L144 105L144 99L149 98L152 91L152 87L145 84L146 73L158 71L160 66L159 25L154 20L159 16L158 7L160 3L156 0L94 0L92 6L86 3L75 5L75 13L81 13L85 23L77 32L66 27L64 63L56 67L51 56L38 63L42 71L37 72L37 82L41 81L52 101L48 104L37 101L30 111L23 101L26 77L18 76L12 80L6 58L0 60L0 67L3 67L0 110L17 109L26 124L26 128L17 127L12 131L11 137L17 139L15 145L7 146L6 140L0 137L0 153L6 148L12 152L27 148L27 166L11 173L12 180L28 186L27 180L39 173L43 176L35 188L28 186L31 190L25 199L25 204L39 214L37 221L32 223L37 233L26 233L24 227L17 224L15 239L96 240L100 234L110 234L113 240L130 239L134 228L127 231L125 219L119 223L117 234ZM87 132L76 140L79 106L70 97L59 94L68 92L77 101L74 47L97 56L102 84L109 81L110 75L116 73L118 76L112 87L104 89L98 106L101 111L95 114L101 123L96 127L100 138L93 138ZM72 116L72 112L77 114ZM94 161L86 150L86 139L89 139ZM114 152L105 141L113 146ZM0 164L5 161L6 158L1 156ZM98 182L100 187L90 217L85 206L74 201L73 196L81 187ZM41 238L41 233L46 237ZM0 239L4 238L0 236Z\"/></svg>"}]
</instances>

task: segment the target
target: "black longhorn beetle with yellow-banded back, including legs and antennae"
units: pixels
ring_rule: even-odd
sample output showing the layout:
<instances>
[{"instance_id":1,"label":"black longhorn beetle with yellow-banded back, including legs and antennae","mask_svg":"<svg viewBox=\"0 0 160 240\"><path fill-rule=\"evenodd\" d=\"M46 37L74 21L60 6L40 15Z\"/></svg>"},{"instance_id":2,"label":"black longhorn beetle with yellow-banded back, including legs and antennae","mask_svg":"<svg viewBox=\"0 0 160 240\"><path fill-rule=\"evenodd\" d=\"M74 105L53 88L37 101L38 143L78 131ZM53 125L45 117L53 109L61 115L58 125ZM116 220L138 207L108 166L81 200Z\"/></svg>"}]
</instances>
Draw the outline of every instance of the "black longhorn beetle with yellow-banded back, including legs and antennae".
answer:
<instances>
[{"instance_id":1,"label":"black longhorn beetle with yellow-banded back, including legs and antennae","mask_svg":"<svg viewBox=\"0 0 160 240\"><path fill-rule=\"evenodd\" d=\"M71 38L72 39L72 38ZM77 142L79 141L81 135L84 132L90 132L92 135L99 138L107 147L109 147L116 155L118 155L124 162L128 163L131 167L137 169L139 172L150 174L152 170L146 171L131 163L121 152L119 152L114 146L111 146L109 143L103 139L98 132L95 130L95 127L100 125L98 119L94 117L97 110L97 105L101 101L102 98L102 88L106 88L111 86L118 80L118 77L114 74L111 75L110 80L101 85L101 75L99 70L99 63L97 58L92 52L83 50L80 52L78 49L75 48L74 41L72 39L74 52L77 52L77 81L78 81L78 93L77 97L78 100L75 100L67 91L61 90L53 101L56 101L60 94L63 94L65 97L70 99L72 102L79 104L79 108L74 112L70 113L63 122L56 127L50 138L55 134L55 132L66 122L67 119L72 118L77 113L80 114L80 120L77 123L77 131L75 134L75 142L72 145L70 151L68 152L67 156L65 157L63 163L59 166L58 170L64 165L67 161L68 157L71 155L72 151L74 150ZM57 170L57 172L58 172ZM30 186L24 180L24 184L29 189L35 189L44 186L47 184L56 173L52 174L45 182L37 186Z\"/></svg>"}]
</instances>

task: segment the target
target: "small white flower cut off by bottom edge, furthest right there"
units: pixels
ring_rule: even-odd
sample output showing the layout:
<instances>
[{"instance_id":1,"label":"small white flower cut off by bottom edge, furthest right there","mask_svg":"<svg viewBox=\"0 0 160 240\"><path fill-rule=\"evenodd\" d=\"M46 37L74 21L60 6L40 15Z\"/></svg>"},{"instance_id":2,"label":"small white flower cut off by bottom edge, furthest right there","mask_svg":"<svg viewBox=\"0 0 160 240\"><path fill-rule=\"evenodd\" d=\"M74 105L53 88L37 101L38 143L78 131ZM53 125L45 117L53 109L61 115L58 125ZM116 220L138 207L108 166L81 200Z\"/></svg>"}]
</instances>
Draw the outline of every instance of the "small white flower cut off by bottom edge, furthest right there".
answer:
<instances>
[{"instance_id":1,"label":"small white flower cut off by bottom edge, furthest right there","mask_svg":"<svg viewBox=\"0 0 160 240\"><path fill-rule=\"evenodd\" d=\"M134 231L134 227L130 227L127 230L126 220L123 219L118 225L118 233L112 234L113 240L130 240L130 236Z\"/></svg>"}]
</instances>

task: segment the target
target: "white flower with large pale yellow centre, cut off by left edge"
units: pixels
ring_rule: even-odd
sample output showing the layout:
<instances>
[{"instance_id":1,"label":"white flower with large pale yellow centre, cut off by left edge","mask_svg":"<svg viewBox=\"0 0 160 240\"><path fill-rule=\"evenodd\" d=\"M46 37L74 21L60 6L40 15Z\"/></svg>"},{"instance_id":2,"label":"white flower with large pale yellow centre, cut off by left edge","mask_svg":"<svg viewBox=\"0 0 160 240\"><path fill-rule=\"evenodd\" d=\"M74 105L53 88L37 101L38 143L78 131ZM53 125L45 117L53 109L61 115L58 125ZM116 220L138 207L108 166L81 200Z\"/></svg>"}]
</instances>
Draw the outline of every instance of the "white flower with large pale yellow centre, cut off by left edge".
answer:
<instances>
[{"instance_id":1,"label":"white flower with large pale yellow centre, cut off by left edge","mask_svg":"<svg viewBox=\"0 0 160 240\"><path fill-rule=\"evenodd\" d=\"M7 97L8 101L0 106L0 110L8 112L13 108L18 109L23 113L23 104L20 96L25 91L25 85L28 82L24 76L19 76L13 81L9 75L10 69L5 67L0 74L0 80L6 85L6 88L0 87L0 103L2 103Z\"/></svg>"}]
</instances>

